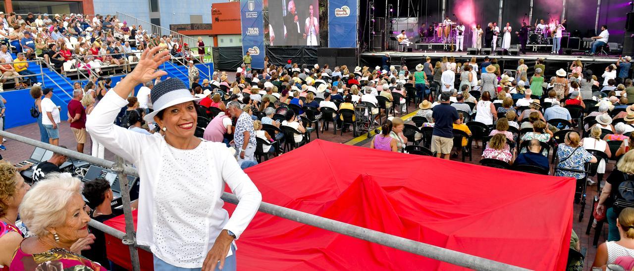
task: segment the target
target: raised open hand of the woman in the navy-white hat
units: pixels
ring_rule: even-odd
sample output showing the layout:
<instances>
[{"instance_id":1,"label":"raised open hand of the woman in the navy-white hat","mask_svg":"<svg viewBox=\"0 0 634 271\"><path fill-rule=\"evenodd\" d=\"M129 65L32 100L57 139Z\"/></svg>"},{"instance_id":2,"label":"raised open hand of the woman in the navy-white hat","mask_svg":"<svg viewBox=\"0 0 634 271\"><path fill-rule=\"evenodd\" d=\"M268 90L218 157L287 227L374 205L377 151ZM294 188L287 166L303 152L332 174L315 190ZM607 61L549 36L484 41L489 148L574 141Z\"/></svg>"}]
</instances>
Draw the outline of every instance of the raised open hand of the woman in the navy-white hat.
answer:
<instances>
[{"instance_id":1,"label":"raised open hand of the woman in the navy-white hat","mask_svg":"<svg viewBox=\"0 0 634 271\"><path fill-rule=\"evenodd\" d=\"M153 80L157 77L167 75L164 70L159 70L159 66L171 58L169 51L161 51L161 47L157 46L152 49L146 49L141 54L141 60L134 67L134 70L127 75L134 82L141 84Z\"/></svg>"}]
</instances>

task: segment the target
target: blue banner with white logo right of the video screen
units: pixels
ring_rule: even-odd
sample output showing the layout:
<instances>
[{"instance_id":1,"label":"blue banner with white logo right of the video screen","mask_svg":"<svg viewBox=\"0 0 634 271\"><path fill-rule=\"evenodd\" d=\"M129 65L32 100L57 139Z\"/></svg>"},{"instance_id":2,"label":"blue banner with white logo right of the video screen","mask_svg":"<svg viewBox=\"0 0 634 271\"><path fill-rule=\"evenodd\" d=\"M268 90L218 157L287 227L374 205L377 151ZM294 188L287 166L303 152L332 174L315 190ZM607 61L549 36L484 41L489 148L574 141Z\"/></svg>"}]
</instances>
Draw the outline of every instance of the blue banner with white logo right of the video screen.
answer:
<instances>
[{"instance_id":1,"label":"blue banner with white logo right of the video screen","mask_svg":"<svg viewBox=\"0 0 634 271\"><path fill-rule=\"evenodd\" d=\"M328 47L358 47L358 0L328 0Z\"/></svg>"}]
</instances>

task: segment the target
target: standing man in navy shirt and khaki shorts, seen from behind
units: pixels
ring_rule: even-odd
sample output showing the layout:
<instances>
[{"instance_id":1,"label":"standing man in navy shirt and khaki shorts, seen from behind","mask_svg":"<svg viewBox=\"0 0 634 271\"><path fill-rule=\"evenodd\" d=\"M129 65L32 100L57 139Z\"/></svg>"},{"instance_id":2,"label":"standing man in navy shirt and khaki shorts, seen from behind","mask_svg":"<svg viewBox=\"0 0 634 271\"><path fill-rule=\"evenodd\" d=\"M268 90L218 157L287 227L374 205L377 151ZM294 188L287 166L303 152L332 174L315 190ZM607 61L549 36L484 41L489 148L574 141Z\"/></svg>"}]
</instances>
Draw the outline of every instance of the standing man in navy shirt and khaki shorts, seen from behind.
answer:
<instances>
[{"instance_id":1,"label":"standing man in navy shirt and khaki shorts, seen from behind","mask_svg":"<svg viewBox=\"0 0 634 271\"><path fill-rule=\"evenodd\" d=\"M440 158L449 160L451 148L453 148L453 123L460 124L458 111L450 105L450 94L443 92L440 96L440 104L432 108L434 118L434 131L432 132L432 152Z\"/></svg>"}]
</instances>

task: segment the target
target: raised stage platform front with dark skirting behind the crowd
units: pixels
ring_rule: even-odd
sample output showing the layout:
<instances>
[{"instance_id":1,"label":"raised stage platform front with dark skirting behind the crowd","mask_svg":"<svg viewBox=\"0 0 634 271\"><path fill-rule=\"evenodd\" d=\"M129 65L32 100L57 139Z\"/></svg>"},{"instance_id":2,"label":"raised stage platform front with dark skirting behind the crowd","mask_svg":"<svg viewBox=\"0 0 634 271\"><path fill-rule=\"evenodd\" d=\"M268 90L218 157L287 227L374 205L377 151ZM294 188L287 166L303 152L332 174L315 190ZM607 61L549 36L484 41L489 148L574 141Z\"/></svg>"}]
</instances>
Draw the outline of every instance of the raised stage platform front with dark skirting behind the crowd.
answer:
<instances>
[{"instance_id":1,"label":"raised stage platform front with dark skirting behind the crowd","mask_svg":"<svg viewBox=\"0 0 634 271\"><path fill-rule=\"evenodd\" d=\"M465 47L465 51L466 51ZM484 61L484 57L488 56L493 59L496 58L498 60L498 64L502 70L507 71L515 71L517 69L517 61L524 60L524 63L529 67L529 76L531 76L533 72L533 66L536 61L541 58L544 60L544 64L546 65L545 75L553 76L555 72L559 68L564 68L564 70L569 71L569 67L574 60L581 60L585 68L592 70L592 72L597 75L597 77L601 77L603 74L603 70L605 70L605 66L615 63L619 59L618 56L611 55L595 55L588 56L583 53L573 53L573 54L548 54L548 53L533 53L527 52L527 54L521 54L519 56L509 56L509 55L495 55L495 54L469 54L467 52L447 52L442 50L430 51L430 50L422 50L422 51L413 51L413 52L397 52L397 51L384 51L377 53L361 53L359 54L359 65L360 66L380 66L381 60L385 54L389 54L392 65L406 65L410 70L418 65L418 63L424 63L425 58L429 56L432 58L432 65L436 63L436 61L440 61L443 56L455 57L457 62L467 62L472 57L476 58L477 63L482 63Z\"/></svg>"}]
</instances>

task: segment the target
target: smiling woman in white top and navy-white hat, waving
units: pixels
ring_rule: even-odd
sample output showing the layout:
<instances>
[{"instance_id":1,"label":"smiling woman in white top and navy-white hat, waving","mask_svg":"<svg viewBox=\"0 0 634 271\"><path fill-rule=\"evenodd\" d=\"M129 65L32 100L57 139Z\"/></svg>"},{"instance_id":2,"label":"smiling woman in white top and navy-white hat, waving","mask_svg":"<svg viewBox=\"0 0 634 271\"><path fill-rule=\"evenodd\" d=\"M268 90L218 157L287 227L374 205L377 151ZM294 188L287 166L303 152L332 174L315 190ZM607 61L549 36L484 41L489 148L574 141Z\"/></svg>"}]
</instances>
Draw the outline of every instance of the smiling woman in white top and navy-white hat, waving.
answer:
<instances>
[{"instance_id":1,"label":"smiling woman in white top and navy-white hat, waving","mask_svg":"<svg viewBox=\"0 0 634 271\"><path fill-rule=\"evenodd\" d=\"M235 152L194 136L197 98L183 81L167 79L152 89L154 111L144 119L156 123L164 136L113 125L136 85L167 74L157 69L169 60L169 51L159 51L154 47L141 54L133 72L94 108L87 130L147 180L139 192L137 240L150 246L155 270L235 270L233 241L256 214L261 194L238 166ZM220 198L225 184L240 200L231 217Z\"/></svg>"}]
</instances>

